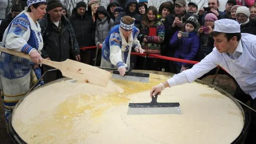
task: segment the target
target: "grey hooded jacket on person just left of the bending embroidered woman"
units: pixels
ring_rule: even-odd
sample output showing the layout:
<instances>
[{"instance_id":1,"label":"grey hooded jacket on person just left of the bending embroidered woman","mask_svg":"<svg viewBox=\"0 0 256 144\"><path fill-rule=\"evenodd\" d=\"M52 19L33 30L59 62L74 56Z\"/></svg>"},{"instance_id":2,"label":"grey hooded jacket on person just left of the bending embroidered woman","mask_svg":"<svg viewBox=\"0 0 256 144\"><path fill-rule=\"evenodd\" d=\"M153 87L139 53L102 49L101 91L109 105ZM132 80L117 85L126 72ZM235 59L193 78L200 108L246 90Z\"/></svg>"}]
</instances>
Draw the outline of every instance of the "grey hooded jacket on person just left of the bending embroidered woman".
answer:
<instances>
[{"instance_id":1,"label":"grey hooded jacket on person just left of the bending embroidered woman","mask_svg":"<svg viewBox=\"0 0 256 144\"><path fill-rule=\"evenodd\" d=\"M105 18L100 20L98 18L98 13L102 13L105 15ZM110 14L107 12L107 10L104 8L104 6L99 6L97 9L97 12L95 14L95 44L102 44L102 42L106 39L108 36L108 33L110 29L115 25L114 20L110 18Z\"/></svg>"}]
</instances>

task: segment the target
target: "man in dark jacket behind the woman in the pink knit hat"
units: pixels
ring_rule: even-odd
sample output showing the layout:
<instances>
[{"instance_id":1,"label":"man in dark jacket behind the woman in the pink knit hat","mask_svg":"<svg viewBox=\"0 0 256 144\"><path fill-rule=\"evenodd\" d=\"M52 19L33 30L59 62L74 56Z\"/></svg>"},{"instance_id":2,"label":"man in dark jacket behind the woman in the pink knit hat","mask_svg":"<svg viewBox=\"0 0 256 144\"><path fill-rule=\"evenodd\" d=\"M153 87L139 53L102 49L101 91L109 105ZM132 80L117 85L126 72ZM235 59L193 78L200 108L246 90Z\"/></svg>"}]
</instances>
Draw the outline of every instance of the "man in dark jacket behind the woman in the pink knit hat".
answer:
<instances>
[{"instance_id":1,"label":"man in dark jacket behind the woman in the pink knit hat","mask_svg":"<svg viewBox=\"0 0 256 144\"><path fill-rule=\"evenodd\" d=\"M220 7L220 3L219 0L209 0L208 1L208 7L210 8L210 11L206 11L204 12L204 8L201 8L198 12L198 22L203 25L204 24L204 17L206 14L208 14L209 12L215 14L218 18L218 20L225 18L226 17L226 13L225 12L221 12L219 11L219 7Z\"/></svg>"}]
</instances>

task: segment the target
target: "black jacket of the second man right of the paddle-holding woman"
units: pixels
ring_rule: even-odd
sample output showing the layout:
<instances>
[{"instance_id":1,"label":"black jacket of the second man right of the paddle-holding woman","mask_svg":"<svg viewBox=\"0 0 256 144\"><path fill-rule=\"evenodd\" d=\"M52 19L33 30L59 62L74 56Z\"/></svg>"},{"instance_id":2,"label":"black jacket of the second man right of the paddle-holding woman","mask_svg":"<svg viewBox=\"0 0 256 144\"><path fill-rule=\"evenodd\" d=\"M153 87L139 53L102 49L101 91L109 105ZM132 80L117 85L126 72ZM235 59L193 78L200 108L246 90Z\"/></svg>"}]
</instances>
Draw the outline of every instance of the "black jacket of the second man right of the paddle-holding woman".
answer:
<instances>
[{"instance_id":1,"label":"black jacket of the second man right of the paddle-holding woman","mask_svg":"<svg viewBox=\"0 0 256 144\"><path fill-rule=\"evenodd\" d=\"M95 26L92 17L87 12L80 16L74 8L69 20L74 28L79 47L94 46Z\"/></svg>"}]
</instances>

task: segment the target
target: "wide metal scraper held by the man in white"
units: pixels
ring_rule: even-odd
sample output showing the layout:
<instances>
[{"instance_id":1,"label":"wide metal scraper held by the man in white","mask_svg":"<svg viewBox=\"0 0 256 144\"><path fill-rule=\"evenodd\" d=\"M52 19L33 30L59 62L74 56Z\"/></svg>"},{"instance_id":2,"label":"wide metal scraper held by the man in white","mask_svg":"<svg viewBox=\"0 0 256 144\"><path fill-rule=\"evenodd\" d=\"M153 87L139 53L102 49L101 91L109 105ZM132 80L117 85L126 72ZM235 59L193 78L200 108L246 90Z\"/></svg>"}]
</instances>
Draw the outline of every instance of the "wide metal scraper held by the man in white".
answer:
<instances>
[{"instance_id":1,"label":"wide metal scraper held by the man in white","mask_svg":"<svg viewBox=\"0 0 256 144\"><path fill-rule=\"evenodd\" d=\"M181 114L180 103L159 103L156 96L150 103L129 103L127 114Z\"/></svg>"}]
</instances>

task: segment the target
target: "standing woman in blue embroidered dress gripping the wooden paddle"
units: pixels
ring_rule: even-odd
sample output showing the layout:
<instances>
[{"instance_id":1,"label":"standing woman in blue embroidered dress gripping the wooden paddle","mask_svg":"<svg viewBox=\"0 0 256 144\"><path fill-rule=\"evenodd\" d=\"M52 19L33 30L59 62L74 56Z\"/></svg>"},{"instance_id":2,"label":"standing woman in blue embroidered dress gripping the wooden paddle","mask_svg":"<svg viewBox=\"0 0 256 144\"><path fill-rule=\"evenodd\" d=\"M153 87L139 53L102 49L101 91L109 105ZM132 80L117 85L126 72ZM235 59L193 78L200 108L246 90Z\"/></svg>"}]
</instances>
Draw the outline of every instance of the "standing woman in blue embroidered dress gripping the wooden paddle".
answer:
<instances>
[{"instance_id":1,"label":"standing woman in blue embroidered dress gripping the wooden paddle","mask_svg":"<svg viewBox=\"0 0 256 144\"><path fill-rule=\"evenodd\" d=\"M27 4L28 8L6 28L2 40L2 46L28 54L32 60L0 53L0 88L7 125L12 108L41 77L38 64L42 61L43 39L37 20L46 14L46 0L28 0Z\"/></svg>"}]
</instances>

